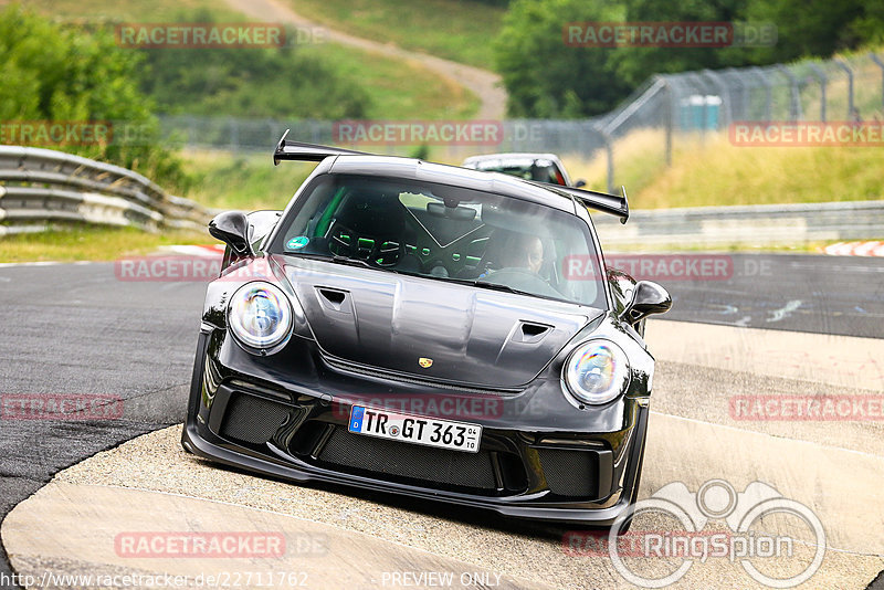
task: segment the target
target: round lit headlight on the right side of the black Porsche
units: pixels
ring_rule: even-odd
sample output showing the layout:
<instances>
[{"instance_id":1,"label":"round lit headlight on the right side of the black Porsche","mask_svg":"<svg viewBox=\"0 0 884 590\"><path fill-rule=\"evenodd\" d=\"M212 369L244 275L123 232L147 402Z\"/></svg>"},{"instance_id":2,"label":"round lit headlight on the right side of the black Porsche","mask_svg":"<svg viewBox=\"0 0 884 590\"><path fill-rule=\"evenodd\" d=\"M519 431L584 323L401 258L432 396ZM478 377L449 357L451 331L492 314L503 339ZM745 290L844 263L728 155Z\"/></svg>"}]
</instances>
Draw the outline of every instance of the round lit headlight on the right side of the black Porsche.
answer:
<instances>
[{"instance_id":1,"label":"round lit headlight on the right side of the black Porsche","mask_svg":"<svg viewBox=\"0 0 884 590\"><path fill-rule=\"evenodd\" d=\"M565 364L565 384L579 401L608 403L627 390L630 379L627 354L609 340L578 346Z\"/></svg>"}]
</instances>

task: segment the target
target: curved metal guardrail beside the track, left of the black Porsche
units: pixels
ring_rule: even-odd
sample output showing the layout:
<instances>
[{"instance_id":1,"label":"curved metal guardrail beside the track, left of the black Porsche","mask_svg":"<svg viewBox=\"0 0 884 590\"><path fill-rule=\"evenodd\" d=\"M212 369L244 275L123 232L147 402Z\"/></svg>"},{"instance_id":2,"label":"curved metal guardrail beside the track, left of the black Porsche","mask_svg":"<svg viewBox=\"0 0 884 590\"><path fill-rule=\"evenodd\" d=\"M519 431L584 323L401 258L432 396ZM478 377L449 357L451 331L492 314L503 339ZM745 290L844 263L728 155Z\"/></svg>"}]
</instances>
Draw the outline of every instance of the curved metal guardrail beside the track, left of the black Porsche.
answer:
<instances>
[{"instance_id":1,"label":"curved metal guardrail beside the track, left of the black Porsche","mask_svg":"<svg viewBox=\"0 0 884 590\"><path fill-rule=\"evenodd\" d=\"M71 221L201 230L211 214L119 166L51 149L0 146L0 235Z\"/></svg>"}]
</instances>

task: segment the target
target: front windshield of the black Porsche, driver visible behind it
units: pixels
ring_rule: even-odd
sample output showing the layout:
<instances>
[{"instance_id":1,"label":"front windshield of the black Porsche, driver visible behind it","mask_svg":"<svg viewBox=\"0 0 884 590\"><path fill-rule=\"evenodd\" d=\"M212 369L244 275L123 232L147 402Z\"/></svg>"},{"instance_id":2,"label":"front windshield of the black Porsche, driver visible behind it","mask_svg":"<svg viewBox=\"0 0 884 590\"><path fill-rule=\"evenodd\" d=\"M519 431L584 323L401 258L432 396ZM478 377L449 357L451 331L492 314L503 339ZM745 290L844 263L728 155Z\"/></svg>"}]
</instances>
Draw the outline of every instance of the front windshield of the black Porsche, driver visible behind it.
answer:
<instances>
[{"instance_id":1,"label":"front windshield of the black Porsche, driver visible behind it","mask_svg":"<svg viewBox=\"0 0 884 590\"><path fill-rule=\"evenodd\" d=\"M550 207L429 182L324 175L286 218L272 252L608 307L588 225ZM580 272L572 272L575 261Z\"/></svg>"}]
</instances>

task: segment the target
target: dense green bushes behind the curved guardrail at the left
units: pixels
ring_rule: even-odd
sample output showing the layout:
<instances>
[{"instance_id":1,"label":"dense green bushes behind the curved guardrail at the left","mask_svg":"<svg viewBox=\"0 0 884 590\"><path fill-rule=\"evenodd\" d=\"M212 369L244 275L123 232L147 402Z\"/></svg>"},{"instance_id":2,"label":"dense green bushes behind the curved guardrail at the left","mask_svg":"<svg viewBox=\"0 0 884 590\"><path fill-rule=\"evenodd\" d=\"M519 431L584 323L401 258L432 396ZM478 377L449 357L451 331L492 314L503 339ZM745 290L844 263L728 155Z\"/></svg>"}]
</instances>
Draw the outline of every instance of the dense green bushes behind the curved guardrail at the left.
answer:
<instances>
[{"instance_id":1,"label":"dense green bushes behind the curved guardrail at the left","mask_svg":"<svg viewBox=\"0 0 884 590\"><path fill-rule=\"evenodd\" d=\"M124 122L150 137L157 122L152 103L138 88L139 64L140 56L116 46L107 31L55 24L11 4L0 11L0 120ZM180 160L152 143L56 147L138 170L160 183L187 185Z\"/></svg>"}]
</instances>

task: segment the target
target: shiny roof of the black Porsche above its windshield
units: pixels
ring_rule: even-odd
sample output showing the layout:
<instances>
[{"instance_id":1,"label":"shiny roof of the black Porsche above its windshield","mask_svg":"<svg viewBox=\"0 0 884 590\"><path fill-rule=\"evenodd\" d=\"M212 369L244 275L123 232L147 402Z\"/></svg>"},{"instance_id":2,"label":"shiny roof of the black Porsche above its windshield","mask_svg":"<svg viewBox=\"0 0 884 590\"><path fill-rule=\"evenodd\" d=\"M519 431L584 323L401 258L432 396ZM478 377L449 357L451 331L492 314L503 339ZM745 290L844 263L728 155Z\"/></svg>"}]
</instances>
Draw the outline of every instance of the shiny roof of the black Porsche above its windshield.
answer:
<instances>
[{"instance_id":1,"label":"shiny roof of the black Porsche above its windshield","mask_svg":"<svg viewBox=\"0 0 884 590\"><path fill-rule=\"evenodd\" d=\"M396 156L337 156L328 168L329 173L378 176L434 182L464 189L493 192L514 199L552 207L568 213L575 212L573 199L555 188L527 182L501 172L485 172L459 166L433 164Z\"/></svg>"}]
</instances>

